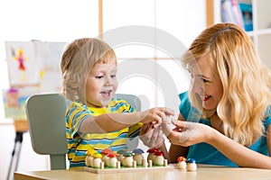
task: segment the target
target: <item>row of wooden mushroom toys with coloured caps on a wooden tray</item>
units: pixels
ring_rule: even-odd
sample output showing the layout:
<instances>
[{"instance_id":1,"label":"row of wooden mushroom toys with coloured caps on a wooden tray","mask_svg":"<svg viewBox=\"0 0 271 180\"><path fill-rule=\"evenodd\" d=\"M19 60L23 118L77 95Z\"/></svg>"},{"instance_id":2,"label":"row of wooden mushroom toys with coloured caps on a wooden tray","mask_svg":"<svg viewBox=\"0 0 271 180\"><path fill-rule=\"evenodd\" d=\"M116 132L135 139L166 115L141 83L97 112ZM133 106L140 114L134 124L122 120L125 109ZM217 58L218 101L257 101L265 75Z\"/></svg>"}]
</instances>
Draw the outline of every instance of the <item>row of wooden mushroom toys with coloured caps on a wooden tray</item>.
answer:
<instances>
[{"instance_id":1,"label":"row of wooden mushroom toys with coloured caps on a wooden tray","mask_svg":"<svg viewBox=\"0 0 271 180\"><path fill-rule=\"evenodd\" d=\"M94 149L89 149L85 158L86 166L101 168L105 166L120 168L120 166L136 167L136 166L167 166L167 160L164 159L164 152L157 148L147 150L147 163L142 155L144 151L141 148L135 148L133 151L119 150L117 153L110 149L104 149L98 153Z\"/></svg>"}]
</instances>

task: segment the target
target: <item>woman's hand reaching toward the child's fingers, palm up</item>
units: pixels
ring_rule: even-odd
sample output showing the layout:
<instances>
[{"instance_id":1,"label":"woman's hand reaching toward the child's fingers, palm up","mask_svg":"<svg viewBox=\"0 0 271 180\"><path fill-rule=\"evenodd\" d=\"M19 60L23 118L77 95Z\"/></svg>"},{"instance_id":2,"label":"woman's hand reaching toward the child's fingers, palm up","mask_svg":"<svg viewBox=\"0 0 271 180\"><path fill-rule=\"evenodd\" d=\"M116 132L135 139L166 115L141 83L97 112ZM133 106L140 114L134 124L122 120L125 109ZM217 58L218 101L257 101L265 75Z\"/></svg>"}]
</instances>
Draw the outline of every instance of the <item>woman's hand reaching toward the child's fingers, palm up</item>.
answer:
<instances>
[{"instance_id":1,"label":"woman's hand reaching toward the child's fingers, palm up","mask_svg":"<svg viewBox=\"0 0 271 180\"><path fill-rule=\"evenodd\" d=\"M167 129L167 138L171 143L183 147L201 142L210 143L215 131L210 126L191 121L173 121L173 125L176 128L170 133Z\"/></svg>"}]
</instances>

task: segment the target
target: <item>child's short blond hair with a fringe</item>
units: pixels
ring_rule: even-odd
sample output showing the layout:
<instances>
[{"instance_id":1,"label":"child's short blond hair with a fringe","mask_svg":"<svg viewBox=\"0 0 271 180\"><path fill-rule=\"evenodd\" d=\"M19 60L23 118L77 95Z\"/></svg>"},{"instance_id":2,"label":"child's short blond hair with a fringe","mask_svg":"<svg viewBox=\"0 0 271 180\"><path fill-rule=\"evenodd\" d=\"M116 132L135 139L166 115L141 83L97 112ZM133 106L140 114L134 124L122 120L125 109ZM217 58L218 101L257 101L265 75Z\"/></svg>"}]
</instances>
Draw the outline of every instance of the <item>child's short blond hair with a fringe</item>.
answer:
<instances>
[{"instance_id":1,"label":"child's short blond hair with a fringe","mask_svg":"<svg viewBox=\"0 0 271 180\"><path fill-rule=\"evenodd\" d=\"M62 93L70 101L86 103L86 82L91 68L97 63L116 63L110 46L98 39L72 41L61 58Z\"/></svg>"}]
</instances>

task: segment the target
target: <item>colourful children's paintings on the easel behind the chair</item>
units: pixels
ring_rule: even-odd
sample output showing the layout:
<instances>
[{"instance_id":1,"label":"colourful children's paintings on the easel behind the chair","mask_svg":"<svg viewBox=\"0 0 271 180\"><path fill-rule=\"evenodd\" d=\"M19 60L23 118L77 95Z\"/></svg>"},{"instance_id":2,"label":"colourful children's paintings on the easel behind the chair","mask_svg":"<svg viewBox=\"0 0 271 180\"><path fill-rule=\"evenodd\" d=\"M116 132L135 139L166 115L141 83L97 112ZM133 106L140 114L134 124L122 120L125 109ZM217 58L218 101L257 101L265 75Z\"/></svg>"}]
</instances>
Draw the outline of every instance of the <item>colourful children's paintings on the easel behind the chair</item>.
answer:
<instances>
[{"instance_id":1,"label":"colourful children's paintings on the easel behind the chair","mask_svg":"<svg viewBox=\"0 0 271 180\"><path fill-rule=\"evenodd\" d=\"M5 118L26 120L31 94L61 92L61 55L66 42L5 41L9 89L3 89Z\"/></svg>"}]
</instances>

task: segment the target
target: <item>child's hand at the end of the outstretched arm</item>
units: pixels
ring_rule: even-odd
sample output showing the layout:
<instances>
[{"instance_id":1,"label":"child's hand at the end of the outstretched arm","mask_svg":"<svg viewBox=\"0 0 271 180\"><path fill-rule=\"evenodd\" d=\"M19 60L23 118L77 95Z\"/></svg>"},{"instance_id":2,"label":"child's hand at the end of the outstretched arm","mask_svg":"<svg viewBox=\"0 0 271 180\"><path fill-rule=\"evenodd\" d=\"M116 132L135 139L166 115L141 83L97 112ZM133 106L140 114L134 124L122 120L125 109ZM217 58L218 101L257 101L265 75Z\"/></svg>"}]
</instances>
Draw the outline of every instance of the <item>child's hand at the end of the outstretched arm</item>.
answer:
<instances>
[{"instance_id":1,"label":"child's hand at the end of the outstretched arm","mask_svg":"<svg viewBox=\"0 0 271 180\"><path fill-rule=\"evenodd\" d=\"M166 119L166 115L174 115L173 110L164 107L155 107L141 113L141 122L152 122L154 127L157 127Z\"/></svg>"}]
</instances>

